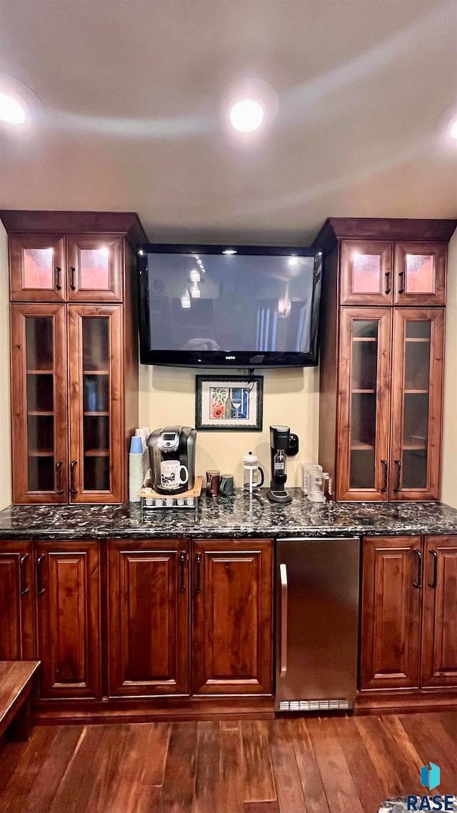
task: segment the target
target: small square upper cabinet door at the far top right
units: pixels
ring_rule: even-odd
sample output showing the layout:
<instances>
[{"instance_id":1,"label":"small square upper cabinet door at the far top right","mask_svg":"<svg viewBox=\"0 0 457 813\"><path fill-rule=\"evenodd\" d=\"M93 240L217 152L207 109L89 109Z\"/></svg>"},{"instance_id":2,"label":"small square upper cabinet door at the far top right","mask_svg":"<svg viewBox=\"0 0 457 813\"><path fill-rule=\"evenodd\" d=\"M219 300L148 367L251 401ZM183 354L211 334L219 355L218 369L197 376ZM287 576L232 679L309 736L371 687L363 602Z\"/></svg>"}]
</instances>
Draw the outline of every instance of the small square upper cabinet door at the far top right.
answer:
<instances>
[{"instance_id":1,"label":"small square upper cabinet door at the far top right","mask_svg":"<svg viewBox=\"0 0 457 813\"><path fill-rule=\"evenodd\" d=\"M395 244L395 304L446 305L446 243Z\"/></svg>"}]
</instances>

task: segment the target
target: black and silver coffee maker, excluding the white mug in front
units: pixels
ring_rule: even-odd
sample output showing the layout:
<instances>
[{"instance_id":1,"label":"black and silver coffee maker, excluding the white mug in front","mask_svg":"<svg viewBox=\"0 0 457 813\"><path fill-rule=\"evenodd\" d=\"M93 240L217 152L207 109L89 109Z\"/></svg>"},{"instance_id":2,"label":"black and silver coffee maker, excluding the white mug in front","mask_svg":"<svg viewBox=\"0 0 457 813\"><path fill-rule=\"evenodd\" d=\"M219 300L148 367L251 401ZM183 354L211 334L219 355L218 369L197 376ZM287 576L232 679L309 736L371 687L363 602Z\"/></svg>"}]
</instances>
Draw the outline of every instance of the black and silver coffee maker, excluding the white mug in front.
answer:
<instances>
[{"instance_id":1,"label":"black and silver coffee maker, excluding the white mug in front","mask_svg":"<svg viewBox=\"0 0 457 813\"><path fill-rule=\"evenodd\" d=\"M180 494L194 488L195 483L195 440L197 433L189 426L164 426L155 429L147 439L150 458L152 488L159 494ZM189 472L185 483L178 482L176 488L164 489L161 485L160 463L178 460Z\"/></svg>"}]
</instances>

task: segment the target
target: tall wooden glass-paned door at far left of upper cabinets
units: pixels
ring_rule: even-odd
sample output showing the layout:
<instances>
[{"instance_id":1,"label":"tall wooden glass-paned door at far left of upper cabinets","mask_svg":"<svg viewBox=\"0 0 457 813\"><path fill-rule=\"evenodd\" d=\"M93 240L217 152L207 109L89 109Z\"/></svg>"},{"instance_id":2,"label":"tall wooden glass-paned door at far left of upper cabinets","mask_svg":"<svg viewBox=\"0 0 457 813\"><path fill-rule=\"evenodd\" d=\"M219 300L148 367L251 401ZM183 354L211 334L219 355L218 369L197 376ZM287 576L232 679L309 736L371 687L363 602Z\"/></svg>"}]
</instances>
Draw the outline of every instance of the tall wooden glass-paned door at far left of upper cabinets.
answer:
<instances>
[{"instance_id":1,"label":"tall wooden glass-paned door at far left of upper cabinets","mask_svg":"<svg viewBox=\"0 0 457 813\"><path fill-rule=\"evenodd\" d=\"M11 306L14 502L67 502L64 305Z\"/></svg>"}]
</instances>

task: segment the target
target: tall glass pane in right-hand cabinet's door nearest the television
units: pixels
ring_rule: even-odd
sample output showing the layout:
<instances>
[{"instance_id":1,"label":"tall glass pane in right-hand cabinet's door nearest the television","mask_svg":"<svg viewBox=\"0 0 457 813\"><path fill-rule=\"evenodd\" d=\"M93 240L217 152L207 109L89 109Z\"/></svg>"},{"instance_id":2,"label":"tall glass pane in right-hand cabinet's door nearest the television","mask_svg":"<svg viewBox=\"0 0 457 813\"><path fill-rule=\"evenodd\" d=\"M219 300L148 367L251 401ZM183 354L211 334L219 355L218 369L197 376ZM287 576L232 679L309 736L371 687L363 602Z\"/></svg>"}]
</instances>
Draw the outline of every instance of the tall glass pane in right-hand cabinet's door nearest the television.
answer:
<instances>
[{"instance_id":1,"label":"tall glass pane in right-hand cabinet's door nearest the television","mask_svg":"<svg viewBox=\"0 0 457 813\"><path fill-rule=\"evenodd\" d=\"M350 489L375 485L377 320L354 320L350 382Z\"/></svg>"}]
</instances>

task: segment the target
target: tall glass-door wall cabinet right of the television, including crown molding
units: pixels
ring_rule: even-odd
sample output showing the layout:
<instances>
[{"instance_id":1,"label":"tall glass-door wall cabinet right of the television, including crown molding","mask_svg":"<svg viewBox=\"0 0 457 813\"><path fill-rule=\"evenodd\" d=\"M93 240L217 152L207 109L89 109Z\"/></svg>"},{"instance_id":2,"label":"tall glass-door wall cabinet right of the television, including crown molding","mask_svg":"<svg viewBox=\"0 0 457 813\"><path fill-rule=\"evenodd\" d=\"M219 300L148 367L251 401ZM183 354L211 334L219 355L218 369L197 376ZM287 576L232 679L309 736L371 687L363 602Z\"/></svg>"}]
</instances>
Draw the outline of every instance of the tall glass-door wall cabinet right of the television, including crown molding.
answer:
<instances>
[{"instance_id":1,"label":"tall glass-door wall cabinet right of the television, including crown molding","mask_svg":"<svg viewBox=\"0 0 457 813\"><path fill-rule=\"evenodd\" d=\"M331 218L316 237L325 252L319 462L337 500L440 497L454 229L454 220Z\"/></svg>"}]
</instances>

